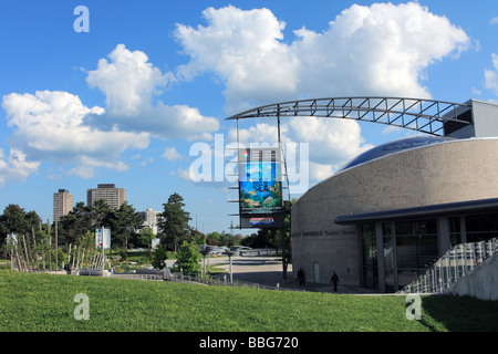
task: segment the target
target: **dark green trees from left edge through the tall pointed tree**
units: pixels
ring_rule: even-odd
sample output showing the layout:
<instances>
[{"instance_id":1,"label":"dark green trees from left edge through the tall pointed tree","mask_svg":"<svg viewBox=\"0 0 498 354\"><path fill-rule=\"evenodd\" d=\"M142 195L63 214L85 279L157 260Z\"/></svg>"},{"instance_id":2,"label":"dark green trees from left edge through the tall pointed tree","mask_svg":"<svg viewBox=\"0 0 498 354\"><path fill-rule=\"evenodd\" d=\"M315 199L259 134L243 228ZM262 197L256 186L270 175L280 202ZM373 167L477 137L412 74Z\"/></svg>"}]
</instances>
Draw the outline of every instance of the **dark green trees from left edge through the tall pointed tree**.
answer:
<instances>
[{"instance_id":1,"label":"dark green trees from left edge through the tall pointed tree","mask_svg":"<svg viewBox=\"0 0 498 354\"><path fill-rule=\"evenodd\" d=\"M143 226L141 214L126 201L118 209L111 208L103 199L96 200L92 206L79 201L56 225L59 246L81 246L89 235L93 237L95 229L101 227L111 229L112 248L125 250L132 247L149 247L152 239L158 237L168 250L176 251L183 240L200 238L199 232L188 225L190 217L183 210L185 205L181 196L172 195L163 207L158 223L160 232L155 236ZM31 233L32 229L52 237L55 235L54 222L44 223L35 211L25 211L19 205L11 204L0 215L0 244L4 244L10 233L25 235Z\"/></svg>"}]
</instances>

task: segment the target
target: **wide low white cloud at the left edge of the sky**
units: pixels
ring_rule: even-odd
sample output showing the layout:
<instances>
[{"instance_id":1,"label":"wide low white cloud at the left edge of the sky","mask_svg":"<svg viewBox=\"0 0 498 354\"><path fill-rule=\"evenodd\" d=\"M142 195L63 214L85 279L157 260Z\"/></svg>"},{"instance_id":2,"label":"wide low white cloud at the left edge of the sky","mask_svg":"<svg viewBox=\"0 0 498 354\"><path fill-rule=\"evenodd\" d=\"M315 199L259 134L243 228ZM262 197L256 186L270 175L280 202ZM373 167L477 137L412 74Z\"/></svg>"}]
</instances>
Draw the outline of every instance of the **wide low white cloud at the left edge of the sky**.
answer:
<instances>
[{"instance_id":1,"label":"wide low white cloud at the left edge of the sky","mask_svg":"<svg viewBox=\"0 0 498 354\"><path fill-rule=\"evenodd\" d=\"M126 168L120 155L129 148L148 146L147 133L98 131L85 125L89 114L102 115L101 107L89 108L68 92L37 91L32 94L12 93L3 96L11 146L31 160L52 160L58 165L76 167L68 173L91 177L95 168Z\"/></svg>"}]
</instances>

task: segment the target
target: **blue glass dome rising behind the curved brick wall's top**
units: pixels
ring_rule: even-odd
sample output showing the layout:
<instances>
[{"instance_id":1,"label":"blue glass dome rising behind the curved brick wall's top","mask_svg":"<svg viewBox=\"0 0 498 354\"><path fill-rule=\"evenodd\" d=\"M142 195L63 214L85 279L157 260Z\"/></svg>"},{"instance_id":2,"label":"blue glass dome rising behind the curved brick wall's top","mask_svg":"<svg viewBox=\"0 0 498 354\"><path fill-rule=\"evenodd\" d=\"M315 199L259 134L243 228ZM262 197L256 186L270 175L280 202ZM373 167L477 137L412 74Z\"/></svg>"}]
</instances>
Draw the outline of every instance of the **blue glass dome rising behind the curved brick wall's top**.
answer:
<instances>
[{"instance_id":1,"label":"blue glass dome rising behind the curved brick wall's top","mask_svg":"<svg viewBox=\"0 0 498 354\"><path fill-rule=\"evenodd\" d=\"M342 171L344 169L371 162L375 158L384 157L391 154L401 153L411 148L433 145L433 144L440 144L444 142L453 140L453 138L449 137L443 137L443 136L415 136L415 137L408 137L404 139L398 139L390 143L385 143L378 146L375 146L371 148L370 150L366 150L363 154L360 154L355 158L353 158L351 162L349 162L344 167L342 167L339 171ZM338 173L339 173L338 171Z\"/></svg>"}]
</instances>

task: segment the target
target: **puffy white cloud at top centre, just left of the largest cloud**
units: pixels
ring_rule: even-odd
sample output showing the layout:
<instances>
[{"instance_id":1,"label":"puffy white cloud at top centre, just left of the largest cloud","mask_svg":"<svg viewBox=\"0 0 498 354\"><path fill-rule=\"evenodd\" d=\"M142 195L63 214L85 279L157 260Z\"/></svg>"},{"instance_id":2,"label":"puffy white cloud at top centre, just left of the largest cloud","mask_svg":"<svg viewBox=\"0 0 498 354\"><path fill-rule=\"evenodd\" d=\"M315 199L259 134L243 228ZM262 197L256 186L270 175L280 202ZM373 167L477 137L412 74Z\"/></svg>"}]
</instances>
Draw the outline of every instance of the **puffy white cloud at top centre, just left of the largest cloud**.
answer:
<instances>
[{"instance_id":1,"label":"puffy white cloud at top centre, just left of the largest cloud","mask_svg":"<svg viewBox=\"0 0 498 354\"><path fill-rule=\"evenodd\" d=\"M294 94L293 54L280 42L286 24L270 10L242 11L229 6L208 8L203 14L208 27L177 25L175 35L190 56L178 70L181 76L216 73L226 84L231 110Z\"/></svg>"}]
</instances>

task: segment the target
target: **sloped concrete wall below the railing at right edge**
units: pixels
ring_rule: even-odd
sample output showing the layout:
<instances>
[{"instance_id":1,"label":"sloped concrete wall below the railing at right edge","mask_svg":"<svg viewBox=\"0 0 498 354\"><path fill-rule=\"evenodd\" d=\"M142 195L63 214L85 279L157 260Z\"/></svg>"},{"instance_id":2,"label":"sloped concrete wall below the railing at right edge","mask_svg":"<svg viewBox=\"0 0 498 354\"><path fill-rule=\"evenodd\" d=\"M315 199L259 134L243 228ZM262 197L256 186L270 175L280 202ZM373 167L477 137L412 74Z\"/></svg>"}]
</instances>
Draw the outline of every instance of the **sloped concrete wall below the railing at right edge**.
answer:
<instances>
[{"instance_id":1,"label":"sloped concrete wall below the railing at right edge","mask_svg":"<svg viewBox=\"0 0 498 354\"><path fill-rule=\"evenodd\" d=\"M483 263L461 277L449 289L449 293L480 300L498 300L498 253L485 259Z\"/></svg>"}]
</instances>

